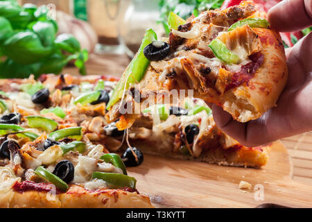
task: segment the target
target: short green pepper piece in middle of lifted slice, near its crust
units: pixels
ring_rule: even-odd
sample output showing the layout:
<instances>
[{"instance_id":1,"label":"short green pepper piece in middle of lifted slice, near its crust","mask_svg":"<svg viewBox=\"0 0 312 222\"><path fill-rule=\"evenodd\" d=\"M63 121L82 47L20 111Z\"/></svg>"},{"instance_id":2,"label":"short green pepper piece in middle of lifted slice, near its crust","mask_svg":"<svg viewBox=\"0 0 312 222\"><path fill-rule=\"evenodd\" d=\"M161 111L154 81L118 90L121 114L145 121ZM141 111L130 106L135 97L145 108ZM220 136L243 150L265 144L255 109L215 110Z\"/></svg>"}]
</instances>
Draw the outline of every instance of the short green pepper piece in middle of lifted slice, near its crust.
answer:
<instances>
[{"instance_id":1,"label":"short green pepper piece in middle of lifted slice, near its crust","mask_svg":"<svg viewBox=\"0 0 312 222\"><path fill-rule=\"evenodd\" d=\"M214 39L209 43L208 46L214 53L214 56L216 56L216 58L219 60L223 60L223 62L227 63L239 63L239 56L237 56L232 51L229 51L227 46L221 40Z\"/></svg>"}]
</instances>

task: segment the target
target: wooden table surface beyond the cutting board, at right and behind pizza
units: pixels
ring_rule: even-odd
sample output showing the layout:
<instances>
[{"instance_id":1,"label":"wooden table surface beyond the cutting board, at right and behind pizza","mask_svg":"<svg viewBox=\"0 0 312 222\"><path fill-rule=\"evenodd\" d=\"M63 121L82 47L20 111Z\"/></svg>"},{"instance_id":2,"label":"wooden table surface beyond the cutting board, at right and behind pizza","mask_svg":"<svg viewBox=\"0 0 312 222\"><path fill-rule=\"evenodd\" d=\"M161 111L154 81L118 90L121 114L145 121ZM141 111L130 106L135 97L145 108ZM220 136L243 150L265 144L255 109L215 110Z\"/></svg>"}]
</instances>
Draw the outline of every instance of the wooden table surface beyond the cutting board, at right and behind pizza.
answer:
<instances>
[{"instance_id":1,"label":"wooden table surface beyond the cutting board, at right and behind pizza","mask_svg":"<svg viewBox=\"0 0 312 222\"><path fill-rule=\"evenodd\" d=\"M130 59L125 55L91 54L87 62L87 73L121 76L129 62ZM74 67L67 67L64 73L78 74L78 71ZM281 139L281 142L291 156L293 180L312 185L312 132Z\"/></svg>"}]
</instances>

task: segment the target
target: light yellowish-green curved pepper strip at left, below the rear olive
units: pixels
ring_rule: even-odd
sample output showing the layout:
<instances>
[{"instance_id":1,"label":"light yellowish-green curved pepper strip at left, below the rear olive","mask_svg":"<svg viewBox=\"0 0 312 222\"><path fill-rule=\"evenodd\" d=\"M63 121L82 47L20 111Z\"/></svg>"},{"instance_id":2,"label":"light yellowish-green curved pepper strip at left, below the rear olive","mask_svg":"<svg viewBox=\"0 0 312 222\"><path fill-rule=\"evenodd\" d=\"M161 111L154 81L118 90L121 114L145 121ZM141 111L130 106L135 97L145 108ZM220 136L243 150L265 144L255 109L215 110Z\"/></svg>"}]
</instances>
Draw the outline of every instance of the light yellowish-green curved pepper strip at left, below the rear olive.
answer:
<instances>
[{"instance_id":1,"label":"light yellowish-green curved pepper strip at left, below the rear olive","mask_svg":"<svg viewBox=\"0 0 312 222\"><path fill-rule=\"evenodd\" d=\"M31 128L41 128L46 132L52 132L56 128L58 128L58 123L55 122L53 119L49 119L46 117L40 116L28 116L26 117L28 121L28 126Z\"/></svg>"}]
</instances>

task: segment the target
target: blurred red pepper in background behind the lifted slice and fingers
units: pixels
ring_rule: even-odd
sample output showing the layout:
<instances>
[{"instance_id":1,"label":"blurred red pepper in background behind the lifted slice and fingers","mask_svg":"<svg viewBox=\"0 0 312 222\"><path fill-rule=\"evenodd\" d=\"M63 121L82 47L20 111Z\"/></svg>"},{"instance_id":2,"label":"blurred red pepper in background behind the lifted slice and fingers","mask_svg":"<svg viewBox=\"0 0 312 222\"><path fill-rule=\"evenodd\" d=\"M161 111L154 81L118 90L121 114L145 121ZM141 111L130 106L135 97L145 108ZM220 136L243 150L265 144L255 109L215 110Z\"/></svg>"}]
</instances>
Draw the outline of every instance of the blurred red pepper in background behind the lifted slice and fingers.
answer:
<instances>
[{"instance_id":1,"label":"blurred red pepper in background behind the lifted slice and fingers","mask_svg":"<svg viewBox=\"0 0 312 222\"><path fill-rule=\"evenodd\" d=\"M241 1L243 0L225 0L220 9L223 10L225 8L229 8L230 6L239 5ZM281 0L269 0L269 1L268 0L253 0L253 1L254 3L261 5L263 7L263 10L268 12L270 8L275 6ZM292 33L280 33L280 34L281 34L281 40L283 40L284 43L289 47L293 46L294 43L297 42L297 40L300 40L304 36L302 31L296 31ZM292 37L293 37L293 41L292 41Z\"/></svg>"}]
</instances>

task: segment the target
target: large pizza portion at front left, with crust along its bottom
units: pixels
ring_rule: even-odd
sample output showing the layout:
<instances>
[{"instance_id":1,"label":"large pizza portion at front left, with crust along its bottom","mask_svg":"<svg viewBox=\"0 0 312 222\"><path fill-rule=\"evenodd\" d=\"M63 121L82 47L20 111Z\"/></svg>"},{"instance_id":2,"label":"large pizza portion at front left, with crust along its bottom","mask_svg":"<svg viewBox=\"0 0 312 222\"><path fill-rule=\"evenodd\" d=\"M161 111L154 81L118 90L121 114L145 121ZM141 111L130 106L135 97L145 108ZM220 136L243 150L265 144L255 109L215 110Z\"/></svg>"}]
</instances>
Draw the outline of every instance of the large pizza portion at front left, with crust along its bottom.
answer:
<instances>
[{"instance_id":1,"label":"large pizza portion at front left, with crust along its bottom","mask_svg":"<svg viewBox=\"0 0 312 222\"><path fill-rule=\"evenodd\" d=\"M72 88L50 91L33 78L0 80L0 207L153 207L121 157L92 143L71 118L75 101L58 101ZM96 96L93 102L101 103ZM90 118L102 112L95 106L87 110Z\"/></svg>"}]
</instances>

